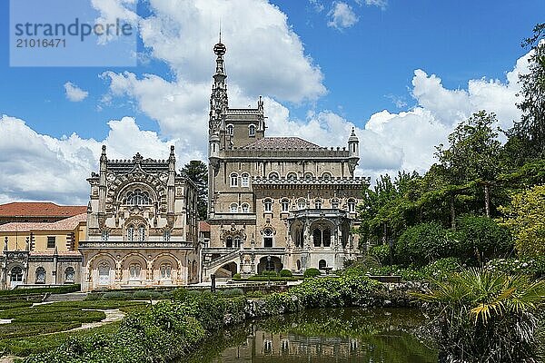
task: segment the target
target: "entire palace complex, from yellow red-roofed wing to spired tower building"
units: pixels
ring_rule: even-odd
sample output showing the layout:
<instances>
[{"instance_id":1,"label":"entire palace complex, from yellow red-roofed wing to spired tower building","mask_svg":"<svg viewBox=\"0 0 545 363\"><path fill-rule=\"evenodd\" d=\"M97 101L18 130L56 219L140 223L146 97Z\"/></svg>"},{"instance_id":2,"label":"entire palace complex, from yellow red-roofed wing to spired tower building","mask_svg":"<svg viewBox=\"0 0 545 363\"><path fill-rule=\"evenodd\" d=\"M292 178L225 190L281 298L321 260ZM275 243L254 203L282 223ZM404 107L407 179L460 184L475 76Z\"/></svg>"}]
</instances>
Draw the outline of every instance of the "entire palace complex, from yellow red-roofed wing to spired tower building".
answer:
<instances>
[{"instance_id":1,"label":"entire palace complex, from yellow red-roofed wing to spired tower building","mask_svg":"<svg viewBox=\"0 0 545 363\"><path fill-rule=\"evenodd\" d=\"M103 146L87 207L0 206L2 289L81 282L82 290L179 286L235 273L342 269L360 252L356 205L368 178L355 132L343 147L266 137L263 101L231 108L223 55L208 124L208 221L196 185L167 160L109 160ZM348 132L347 132L348 133ZM4 223L4 224L3 224Z\"/></svg>"}]
</instances>

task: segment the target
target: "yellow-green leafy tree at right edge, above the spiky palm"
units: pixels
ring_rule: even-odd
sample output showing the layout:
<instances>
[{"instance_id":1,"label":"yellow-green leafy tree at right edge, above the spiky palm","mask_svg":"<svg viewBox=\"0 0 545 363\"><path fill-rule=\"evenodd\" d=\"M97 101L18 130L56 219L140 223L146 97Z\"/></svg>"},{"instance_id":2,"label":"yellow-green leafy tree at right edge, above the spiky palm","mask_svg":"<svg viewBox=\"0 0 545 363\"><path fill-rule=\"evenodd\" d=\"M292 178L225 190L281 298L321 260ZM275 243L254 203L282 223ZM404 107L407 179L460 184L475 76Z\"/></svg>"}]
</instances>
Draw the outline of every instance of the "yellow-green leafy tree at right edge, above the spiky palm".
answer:
<instances>
[{"instance_id":1,"label":"yellow-green leafy tree at right edge, above the spiky palm","mask_svg":"<svg viewBox=\"0 0 545 363\"><path fill-rule=\"evenodd\" d=\"M521 256L545 254L545 185L515 194L511 204L500 211L504 213L502 224L512 232Z\"/></svg>"}]
</instances>

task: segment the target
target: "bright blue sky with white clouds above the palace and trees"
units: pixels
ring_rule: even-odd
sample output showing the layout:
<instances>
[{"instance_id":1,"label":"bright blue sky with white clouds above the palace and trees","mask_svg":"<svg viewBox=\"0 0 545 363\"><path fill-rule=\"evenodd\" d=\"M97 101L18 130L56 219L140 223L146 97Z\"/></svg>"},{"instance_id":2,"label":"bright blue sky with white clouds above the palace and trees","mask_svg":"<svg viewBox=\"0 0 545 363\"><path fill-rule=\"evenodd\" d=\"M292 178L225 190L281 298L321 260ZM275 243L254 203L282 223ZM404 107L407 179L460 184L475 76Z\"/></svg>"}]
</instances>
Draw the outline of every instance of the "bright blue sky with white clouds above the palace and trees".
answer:
<instances>
[{"instance_id":1,"label":"bright blue sky with white clouds above the palace and trees","mask_svg":"<svg viewBox=\"0 0 545 363\"><path fill-rule=\"evenodd\" d=\"M119 15L100 3L89 0L96 17ZM0 167L13 179L0 178L0 201L84 201L84 182L49 192L45 181L64 170L78 170L74 178L94 170L100 143L129 157L138 146L154 154L153 147L173 142L181 162L204 158L219 19L233 106L263 94L271 134L324 146L344 144L346 130L356 127L368 146L362 174L423 171L432 145L469 113L490 109L503 127L517 117L517 86L507 74L516 79L524 68L517 61L528 50L520 42L545 14L542 0L149 0L137 7L136 22L147 33L138 40L145 61L136 67L10 67L8 4L0 3ZM136 136L127 140L129 129ZM414 135L402 140L407 130ZM58 162L59 172L9 185L39 169L10 169L31 158L6 142L17 132L43 142L52 156L41 165ZM73 133L74 140L63 140ZM145 147L132 142L141 136Z\"/></svg>"}]
</instances>

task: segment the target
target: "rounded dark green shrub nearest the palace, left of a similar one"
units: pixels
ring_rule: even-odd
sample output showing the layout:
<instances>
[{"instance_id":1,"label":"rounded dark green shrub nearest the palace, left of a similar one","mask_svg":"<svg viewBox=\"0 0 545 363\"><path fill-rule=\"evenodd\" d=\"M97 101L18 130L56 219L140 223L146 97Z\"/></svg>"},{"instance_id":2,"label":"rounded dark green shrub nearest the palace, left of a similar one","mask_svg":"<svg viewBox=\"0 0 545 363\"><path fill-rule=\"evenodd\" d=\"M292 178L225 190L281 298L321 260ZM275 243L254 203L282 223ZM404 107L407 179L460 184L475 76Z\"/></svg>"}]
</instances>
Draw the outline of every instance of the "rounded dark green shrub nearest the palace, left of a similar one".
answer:
<instances>
[{"instance_id":1,"label":"rounded dark green shrub nearest the palace, left of a similar one","mask_svg":"<svg viewBox=\"0 0 545 363\"><path fill-rule=\"evenodd\" d=\"M448 230L436 222L421 223L405 230L395 246L396 260L418 266L452 256Z\"/></svg>"}]
</instances>

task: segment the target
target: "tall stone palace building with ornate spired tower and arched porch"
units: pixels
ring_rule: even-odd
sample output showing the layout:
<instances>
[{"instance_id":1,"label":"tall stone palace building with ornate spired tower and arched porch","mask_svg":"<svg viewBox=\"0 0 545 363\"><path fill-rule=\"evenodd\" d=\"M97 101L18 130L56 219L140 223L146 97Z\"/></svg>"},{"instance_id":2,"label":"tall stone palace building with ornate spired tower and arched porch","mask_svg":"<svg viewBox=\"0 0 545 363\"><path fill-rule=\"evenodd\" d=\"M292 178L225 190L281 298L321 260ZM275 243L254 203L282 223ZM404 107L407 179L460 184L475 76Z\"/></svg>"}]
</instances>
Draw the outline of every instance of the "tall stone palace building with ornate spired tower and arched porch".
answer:
<instances>
[{"instance_id":1,"label":"tall stone palace building with ornate spired tower and arched porch","mask_svg":"<svg viewBox=\"0 0 545 363\"><path fill-rule=\"evenodd\" d=\"M296 137L265 137L263 101L230 108L223 55L216 44L210 100L209 245L203 279L212 274L308 268L340 269L358 253L351 234L366 178L353 176L359 141L324 148Z\"/></svg>"}]
</instances>

